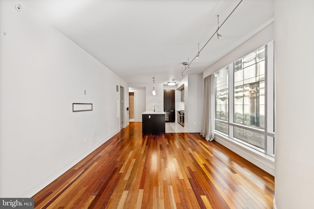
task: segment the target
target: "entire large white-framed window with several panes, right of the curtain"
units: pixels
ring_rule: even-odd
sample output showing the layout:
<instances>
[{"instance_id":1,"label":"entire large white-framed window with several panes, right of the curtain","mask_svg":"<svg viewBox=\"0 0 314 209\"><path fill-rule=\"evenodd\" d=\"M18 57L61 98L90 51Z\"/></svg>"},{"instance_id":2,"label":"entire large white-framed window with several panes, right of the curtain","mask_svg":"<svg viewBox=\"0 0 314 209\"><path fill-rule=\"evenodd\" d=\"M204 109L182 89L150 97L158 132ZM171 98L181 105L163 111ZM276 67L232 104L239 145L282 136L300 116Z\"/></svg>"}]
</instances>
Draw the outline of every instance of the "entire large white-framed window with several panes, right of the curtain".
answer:
<instances>
[{"instance_id":1,"label":"entire large white-framed window with several panes, right of the curtain","mask_svg":"<svg viewBox=\"0 0 314 209\"><path fill-rule=\"evenodd\" d=\"M215 130L268 155L274 155L273 46L214 73Z\"/></svg>"}]
</instances>

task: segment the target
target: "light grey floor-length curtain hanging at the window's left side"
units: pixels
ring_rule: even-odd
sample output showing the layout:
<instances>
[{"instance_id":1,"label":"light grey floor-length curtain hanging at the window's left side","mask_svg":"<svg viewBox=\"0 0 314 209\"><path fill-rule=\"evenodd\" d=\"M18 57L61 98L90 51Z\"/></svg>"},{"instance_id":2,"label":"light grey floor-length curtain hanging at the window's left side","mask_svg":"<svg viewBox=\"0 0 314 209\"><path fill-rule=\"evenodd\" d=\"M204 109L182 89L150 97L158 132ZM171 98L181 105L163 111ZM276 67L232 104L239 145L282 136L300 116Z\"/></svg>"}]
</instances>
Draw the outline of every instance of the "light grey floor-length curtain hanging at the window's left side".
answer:
<instances>
[{"instance_id":1,"label":"light grey floor-length curtain hanging at the window's left side","mask_svg":"<svg viewBox=\"0 0 314 209\"><path fill-rule=\"evenodd\" d=\"M208 141L214 139L215 132L215 93L214 75L211 74L204 79L204 105L203 105L203 126L201 135Z\"/></svg>"}]
</instances>

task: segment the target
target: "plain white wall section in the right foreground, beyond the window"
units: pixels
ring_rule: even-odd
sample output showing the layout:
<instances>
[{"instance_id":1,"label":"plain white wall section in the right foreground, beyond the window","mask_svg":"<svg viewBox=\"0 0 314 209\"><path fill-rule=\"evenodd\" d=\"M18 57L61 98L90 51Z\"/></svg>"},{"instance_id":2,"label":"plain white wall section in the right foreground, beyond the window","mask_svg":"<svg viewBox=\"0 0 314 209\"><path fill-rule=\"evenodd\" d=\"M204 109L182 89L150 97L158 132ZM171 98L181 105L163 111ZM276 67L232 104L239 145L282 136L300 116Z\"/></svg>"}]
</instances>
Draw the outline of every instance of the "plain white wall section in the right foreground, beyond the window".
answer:
<instances>
[{"instance_id":1,"label":"plain white wall section in the right foreground, beyond the window","mask_svg":"<svg viewBox=\"0 0 314 209\"><path fill-rule=\"evenodd\" d=\"M275 0L275 209L313 208L313 8Z\"/></svg>"}]
</instances>

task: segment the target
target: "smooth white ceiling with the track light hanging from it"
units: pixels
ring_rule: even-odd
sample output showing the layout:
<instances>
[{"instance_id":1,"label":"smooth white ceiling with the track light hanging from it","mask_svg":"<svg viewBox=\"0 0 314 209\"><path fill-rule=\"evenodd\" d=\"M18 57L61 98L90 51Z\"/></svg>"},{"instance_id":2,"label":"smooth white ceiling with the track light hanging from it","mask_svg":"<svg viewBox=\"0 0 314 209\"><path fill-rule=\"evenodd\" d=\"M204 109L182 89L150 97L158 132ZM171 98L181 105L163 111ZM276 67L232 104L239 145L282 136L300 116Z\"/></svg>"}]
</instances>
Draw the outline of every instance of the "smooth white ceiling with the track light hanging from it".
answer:
<instances>
[{"instance_id":1,"label":"smooth white ceiling with the track light hanging from it","mask_svg":"<svg viewBox=\"0 0 314 209\"><path fill-rule=\"evenodd\" d=\"M25 0L127 83L181 81L240 0ZM202 73L273 21L273 0L243 0L186 74ZM184 69L184 67L183 67Z\"/></svg>"}]
</instances>

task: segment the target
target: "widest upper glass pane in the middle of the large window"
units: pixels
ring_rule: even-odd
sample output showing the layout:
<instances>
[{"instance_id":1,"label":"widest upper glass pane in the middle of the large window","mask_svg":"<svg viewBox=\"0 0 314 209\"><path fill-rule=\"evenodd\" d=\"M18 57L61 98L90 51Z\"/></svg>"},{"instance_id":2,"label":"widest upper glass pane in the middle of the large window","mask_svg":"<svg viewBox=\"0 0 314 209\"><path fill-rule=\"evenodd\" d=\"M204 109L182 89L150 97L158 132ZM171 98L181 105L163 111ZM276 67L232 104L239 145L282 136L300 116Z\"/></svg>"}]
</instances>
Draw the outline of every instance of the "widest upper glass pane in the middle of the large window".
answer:
<instances>
[{"instance_id":1,"label":"widest upper glass pane in the middle of the large window","mask_svg":"<svg viewBox=\"0 0 314 209\"><path fill-rule=\"evenodd\" d=\"M264 128L265 46L235 61L235 123Z\"/></svg>"}]
</instances>

